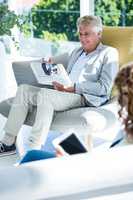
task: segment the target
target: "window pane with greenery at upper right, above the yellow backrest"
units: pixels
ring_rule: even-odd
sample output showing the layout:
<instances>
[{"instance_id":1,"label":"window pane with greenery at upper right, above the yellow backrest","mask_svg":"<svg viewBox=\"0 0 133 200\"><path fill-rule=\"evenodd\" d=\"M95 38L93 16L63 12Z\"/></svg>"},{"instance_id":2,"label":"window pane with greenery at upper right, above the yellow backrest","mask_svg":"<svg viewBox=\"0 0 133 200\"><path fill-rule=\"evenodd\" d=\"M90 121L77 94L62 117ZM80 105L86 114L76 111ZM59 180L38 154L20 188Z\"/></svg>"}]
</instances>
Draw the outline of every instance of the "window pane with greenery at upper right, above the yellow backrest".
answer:
<instances>
[{"instance_id":1,"label":"window pane with greenery at upper right, above the yellow backrest","mask_svg":"<svg viewBox=\"0 0 133 200\"><path fill-rule=\"evenodd\" d=\"M133 1L95 0L95 14L101 16L104 25L132 26Z\"/></svg>"}]
</instances>

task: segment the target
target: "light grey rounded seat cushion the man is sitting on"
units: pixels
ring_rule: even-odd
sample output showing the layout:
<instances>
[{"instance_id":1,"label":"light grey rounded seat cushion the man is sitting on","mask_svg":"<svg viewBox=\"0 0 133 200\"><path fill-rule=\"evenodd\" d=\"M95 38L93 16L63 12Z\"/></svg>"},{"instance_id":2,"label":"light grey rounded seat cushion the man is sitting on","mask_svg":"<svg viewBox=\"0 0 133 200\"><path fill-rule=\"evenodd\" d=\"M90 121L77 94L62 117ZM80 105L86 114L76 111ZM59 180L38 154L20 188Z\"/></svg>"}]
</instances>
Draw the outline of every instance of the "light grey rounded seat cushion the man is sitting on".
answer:
<instances>
[{"instance_id":1,"label":"light grey rounded seat cushion the man is sitting on","mask_svg":"<svg viewBox=\"0 0 133 200\"><path fill-rule=\"evenodd\" d=\"M11 98L0 104L0 113L5 117L8 117L12 100ZM95 136L111 141L117 132L117 130L116 132L113 130L117 122L113 108L114 104L110 101L110 103L99 108L85 107L57 112L51 130L62 133L75 132L80 136L93 133ZM36 106L32 106L29 110L25 124L32 126L35 121Z\"/></svg>"}]
</instances>

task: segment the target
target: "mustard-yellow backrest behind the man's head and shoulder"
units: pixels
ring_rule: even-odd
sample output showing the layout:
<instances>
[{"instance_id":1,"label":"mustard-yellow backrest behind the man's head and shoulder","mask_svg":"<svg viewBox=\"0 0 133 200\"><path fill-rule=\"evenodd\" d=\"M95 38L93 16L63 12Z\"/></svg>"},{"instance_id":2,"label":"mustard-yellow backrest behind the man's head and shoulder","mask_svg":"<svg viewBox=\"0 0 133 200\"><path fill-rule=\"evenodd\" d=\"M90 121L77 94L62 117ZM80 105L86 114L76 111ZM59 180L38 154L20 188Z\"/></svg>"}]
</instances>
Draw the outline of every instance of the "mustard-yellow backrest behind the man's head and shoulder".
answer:
<instances>
[{"instance_id":1,"label":"mustard-yellow backrest behind the man's head and shoulder","mask_svg":"<svg viewBox=\"0 0 133 200\"><path fill-rule=\"evenodd\" d=\"M102 42L118 49L120 66L133 61L133 27L104 27Z\"/></svg>"}]
</instances>

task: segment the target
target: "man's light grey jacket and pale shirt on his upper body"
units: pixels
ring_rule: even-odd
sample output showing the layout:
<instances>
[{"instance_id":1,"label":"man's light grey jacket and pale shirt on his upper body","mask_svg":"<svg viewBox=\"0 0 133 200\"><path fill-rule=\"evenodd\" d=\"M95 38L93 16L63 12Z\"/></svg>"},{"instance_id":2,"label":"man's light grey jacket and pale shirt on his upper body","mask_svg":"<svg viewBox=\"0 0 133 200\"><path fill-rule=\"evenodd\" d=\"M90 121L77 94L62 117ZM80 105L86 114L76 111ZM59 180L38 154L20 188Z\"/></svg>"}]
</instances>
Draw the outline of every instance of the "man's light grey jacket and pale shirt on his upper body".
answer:
<instances>
[{"instance_id":1,"label":"man's light grey jacket and pale shirt on his upper body","mask_svg":"<svg viewBox=\"0 0 133 200\"><path fill-rule=\"evenodd\" d=\"M82 47L72 52L67 72L75 92L97 107L110 98L118 72L118 51L100 43L91 53L85 55L83 52Z\"/></svg>"}]
</instances>

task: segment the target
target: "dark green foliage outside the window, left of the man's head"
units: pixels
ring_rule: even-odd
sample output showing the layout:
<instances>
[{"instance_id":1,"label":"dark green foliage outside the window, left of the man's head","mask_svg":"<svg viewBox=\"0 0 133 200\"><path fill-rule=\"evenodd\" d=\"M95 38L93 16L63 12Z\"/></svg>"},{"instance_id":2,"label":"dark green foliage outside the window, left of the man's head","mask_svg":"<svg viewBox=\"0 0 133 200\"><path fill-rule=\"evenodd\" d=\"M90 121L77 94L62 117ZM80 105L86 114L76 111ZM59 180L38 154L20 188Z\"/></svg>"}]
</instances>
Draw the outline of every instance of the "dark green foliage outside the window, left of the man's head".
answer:
<instances>
[{"instance_id":1,"label":"dark green foliage outside the window, left of the man's head","mask_svg":"<svg viewBox=\"0 0 133 200\"><path fill-rule=\"evenodd\" d=\"M40 0L32 10L34 36L40 37L42 31L64 33L69 41L77 41L76 21L80 16L80 1Z\"/></svg>"}]
</instances>

